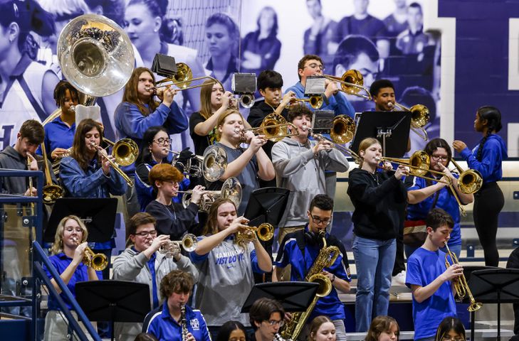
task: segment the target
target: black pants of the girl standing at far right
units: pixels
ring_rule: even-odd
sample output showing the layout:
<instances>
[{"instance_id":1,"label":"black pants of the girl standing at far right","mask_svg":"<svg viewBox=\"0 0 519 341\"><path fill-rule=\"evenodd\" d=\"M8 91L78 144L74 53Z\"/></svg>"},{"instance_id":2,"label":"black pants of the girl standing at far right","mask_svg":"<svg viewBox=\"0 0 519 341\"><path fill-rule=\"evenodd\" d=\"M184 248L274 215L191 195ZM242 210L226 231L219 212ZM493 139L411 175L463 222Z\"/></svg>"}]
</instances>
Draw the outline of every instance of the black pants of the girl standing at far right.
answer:
<instances>
[{"instance_id":1,"label":"black pants of the girl standing at far right","mask_svg":"<svg viewBox=\"0 0 519 341\"><path fill-rule=\"evenodd\" d=\"M474 195L474 226L483 247L486 266L498 266L499 252L496 244L499 212L505 205L505 197L497 183L485 183Z\"/></svg>"}]
</instances>

